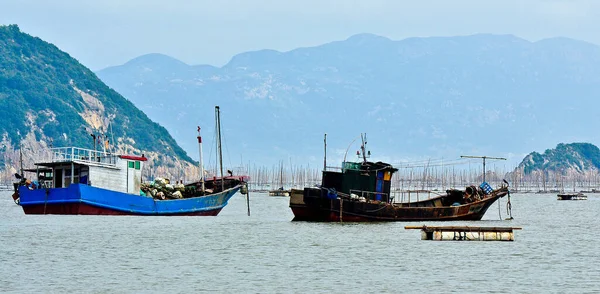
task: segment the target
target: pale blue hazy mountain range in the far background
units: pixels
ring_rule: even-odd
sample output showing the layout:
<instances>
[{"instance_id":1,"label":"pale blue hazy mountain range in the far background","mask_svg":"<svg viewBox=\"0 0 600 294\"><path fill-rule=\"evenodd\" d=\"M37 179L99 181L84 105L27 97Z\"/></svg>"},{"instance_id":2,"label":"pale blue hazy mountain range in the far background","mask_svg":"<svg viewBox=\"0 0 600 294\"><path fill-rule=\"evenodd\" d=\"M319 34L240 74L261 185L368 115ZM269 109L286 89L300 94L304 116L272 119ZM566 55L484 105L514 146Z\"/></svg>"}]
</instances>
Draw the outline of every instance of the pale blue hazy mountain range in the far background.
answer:
<instances>
[{"instance_id":1,"label":"pale blue hazy mountain range in the far background","mask_svg":"<svg viewBox=\"0 0 600 294\"><path fill-rule=\"evenodd\" d=\"M374 156L392 162L465 154L520 161L559 142L600 139L600 48L567 38L361 34L246 52L221 68L150 54L97 74L192 156L196 125L213 136L214 105L231 161L322 164L323 133L330 158L367 132Z\"/></svg>"}]
</instances>

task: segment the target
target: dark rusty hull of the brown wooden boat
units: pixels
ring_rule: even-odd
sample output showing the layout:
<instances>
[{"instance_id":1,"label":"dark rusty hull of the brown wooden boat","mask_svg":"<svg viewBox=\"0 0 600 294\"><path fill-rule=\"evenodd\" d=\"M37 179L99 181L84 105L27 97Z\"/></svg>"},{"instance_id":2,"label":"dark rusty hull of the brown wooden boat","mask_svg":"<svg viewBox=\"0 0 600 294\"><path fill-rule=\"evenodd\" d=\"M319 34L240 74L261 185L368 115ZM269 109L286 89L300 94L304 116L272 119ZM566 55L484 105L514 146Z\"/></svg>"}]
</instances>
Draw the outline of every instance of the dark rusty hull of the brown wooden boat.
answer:
<instances>
[{"instance_id":1,"label":"dark rusty hull of the brown wooden boat","mask_svg":"<svg viewBox=\"0 0 600 294\"><path fill-rule=\"evenodd\" d=\"M344 199L310 199L290 202L294 221L385 222L481 220L488 208L506 193L476 202L442 207L410 207L389 203L368 203Z\"/></svg>"}]
</instances>

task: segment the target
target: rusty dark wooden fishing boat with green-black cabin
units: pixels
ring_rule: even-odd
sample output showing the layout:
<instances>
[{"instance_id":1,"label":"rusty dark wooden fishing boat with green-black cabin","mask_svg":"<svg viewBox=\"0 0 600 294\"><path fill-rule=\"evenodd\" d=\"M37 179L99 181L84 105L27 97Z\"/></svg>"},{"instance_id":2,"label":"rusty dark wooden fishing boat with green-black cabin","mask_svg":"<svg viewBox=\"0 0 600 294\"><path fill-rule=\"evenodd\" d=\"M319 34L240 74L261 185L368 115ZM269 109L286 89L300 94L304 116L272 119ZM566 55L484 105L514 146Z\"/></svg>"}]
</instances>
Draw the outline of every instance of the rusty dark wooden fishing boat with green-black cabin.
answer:
<instances>
[{"instance_id":1,"label":"rusty dark wooden fishing boat with green-black cabin","mask_svg":"<svg viewBox=\"0 0 600 294\"><path fill-rule=\"evenodd\" d=\"M464 190L450 189L427 200L395 203L390 190L398 169L388 163L367 161L365 140L361 150L362 162L344 161L341 171L325 169L320 186L292 193L294 221L480 220L496 200L510 193L506 181L496 189L483 182Z\"/></svg>"}]
</instances>

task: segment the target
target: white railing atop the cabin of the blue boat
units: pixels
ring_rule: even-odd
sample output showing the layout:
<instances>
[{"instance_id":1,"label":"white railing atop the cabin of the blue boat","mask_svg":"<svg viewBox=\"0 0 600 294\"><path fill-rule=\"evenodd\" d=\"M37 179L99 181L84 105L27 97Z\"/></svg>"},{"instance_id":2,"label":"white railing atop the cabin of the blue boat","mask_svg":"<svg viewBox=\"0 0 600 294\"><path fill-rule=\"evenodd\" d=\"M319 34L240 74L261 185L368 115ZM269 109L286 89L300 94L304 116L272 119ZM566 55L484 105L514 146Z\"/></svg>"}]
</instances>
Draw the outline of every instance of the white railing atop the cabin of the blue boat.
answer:
<instances>
[{"instance_id":1,"label":"white railing atop the cabin of the blue boat","mask_svg":"<svg viewBox=\"0 0 600 294\"><path fill-rule=\"evenodd\" d=\"M118 156L105 151L78 147L51 148L51 162L77 162L88 165L116 167Z\"/></svg>"}]
</instances>

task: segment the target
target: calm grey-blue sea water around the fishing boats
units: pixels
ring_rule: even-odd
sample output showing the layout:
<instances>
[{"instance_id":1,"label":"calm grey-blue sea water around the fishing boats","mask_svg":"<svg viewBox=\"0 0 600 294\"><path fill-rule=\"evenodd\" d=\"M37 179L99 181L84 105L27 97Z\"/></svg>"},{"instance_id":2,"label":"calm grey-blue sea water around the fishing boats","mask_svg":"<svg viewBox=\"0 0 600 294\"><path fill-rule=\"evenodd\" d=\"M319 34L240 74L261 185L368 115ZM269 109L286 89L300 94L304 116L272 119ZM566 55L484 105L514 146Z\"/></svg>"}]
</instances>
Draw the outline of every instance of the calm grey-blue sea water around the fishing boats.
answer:
<instances>
[{"instance_id":1,"label":"calm grey-blue sea water around the fishing boats","mask_svg":"<svg viewBox=\"0 0 600 294\"><path fill-rule=\"evenodd\" d=\"M289 198L216 217L25 215L0 193L0 292L600 293L600 195L513 194L477 222L291 222ZM502 219L502 220L500 220ZM424 241L406 225L522 227Z\"/></svg>"}]
</instances>

